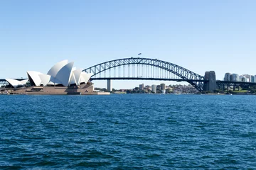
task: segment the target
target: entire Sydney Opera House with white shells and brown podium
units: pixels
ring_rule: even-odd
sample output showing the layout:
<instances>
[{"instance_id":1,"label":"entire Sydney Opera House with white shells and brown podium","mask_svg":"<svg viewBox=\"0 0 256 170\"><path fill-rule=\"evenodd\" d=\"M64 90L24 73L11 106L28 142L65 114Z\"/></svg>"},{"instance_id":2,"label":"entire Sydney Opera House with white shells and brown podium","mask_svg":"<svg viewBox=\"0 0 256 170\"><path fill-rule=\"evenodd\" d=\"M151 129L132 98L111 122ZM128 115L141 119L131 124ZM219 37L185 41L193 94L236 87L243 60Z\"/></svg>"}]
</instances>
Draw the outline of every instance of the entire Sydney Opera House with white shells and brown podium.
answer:
<instances>
[{"instance_id":1,"label":"entire Sydney Opera House with white shells and brown podium","mask_svg":"<svg viewBox=\"0 0 256 170\"><path fill-rule=\"evenodd\" d=\"M75 69L74 62L63 60L50 68L47 74L27 72L28 79L6 79L15 94L85 94L92 93L92 74Z\"/></svg>"}]
</instances>

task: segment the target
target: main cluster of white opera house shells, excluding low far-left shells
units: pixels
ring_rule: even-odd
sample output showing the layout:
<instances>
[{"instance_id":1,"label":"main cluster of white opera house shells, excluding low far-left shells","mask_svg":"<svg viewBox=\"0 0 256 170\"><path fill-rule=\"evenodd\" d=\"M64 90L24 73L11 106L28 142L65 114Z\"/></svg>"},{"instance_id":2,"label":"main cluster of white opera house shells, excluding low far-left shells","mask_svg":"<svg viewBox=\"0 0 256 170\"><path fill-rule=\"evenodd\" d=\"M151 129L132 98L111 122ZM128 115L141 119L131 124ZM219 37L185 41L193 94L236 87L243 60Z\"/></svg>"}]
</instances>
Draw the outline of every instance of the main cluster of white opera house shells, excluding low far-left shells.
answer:
<instances>
[{"instance_id":1,"label":"main cluster of white opera house shells, excluding low far-left shells","mask_svg":"<svg viewBox=\"0 0 256 170\"><path fill-rule=\"evenodd\" d=\"M31 86L79 86L86 84L92 74L73 68L74 62L63 60L50 68L47 74L29 71L28 80Z\"/></svg>"}]
</instances>

